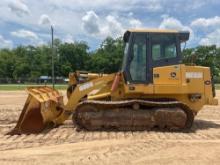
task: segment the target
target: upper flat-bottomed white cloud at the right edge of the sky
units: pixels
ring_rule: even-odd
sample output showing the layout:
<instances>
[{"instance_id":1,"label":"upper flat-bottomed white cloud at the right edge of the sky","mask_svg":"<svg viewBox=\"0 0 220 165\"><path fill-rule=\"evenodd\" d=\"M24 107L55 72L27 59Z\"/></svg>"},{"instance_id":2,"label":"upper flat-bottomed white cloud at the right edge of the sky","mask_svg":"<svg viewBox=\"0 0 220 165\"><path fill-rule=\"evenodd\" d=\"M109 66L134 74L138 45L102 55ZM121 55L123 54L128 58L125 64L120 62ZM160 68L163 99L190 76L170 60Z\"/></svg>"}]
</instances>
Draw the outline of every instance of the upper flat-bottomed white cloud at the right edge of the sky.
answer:
<instances>
[{"instance_id":1,"label":"upper flat-bottomed white cloud at the right edge of the sky","mask_svg":"<svg viewBox=\"0 0 220 165\"><path fill-rule=\"evenodd\" d=\"M191 26L195 27L209 27L209 26L220 26L220 17L215 16L212 18L198 18L193 20Z\"/></svg>"}]
</instances>

